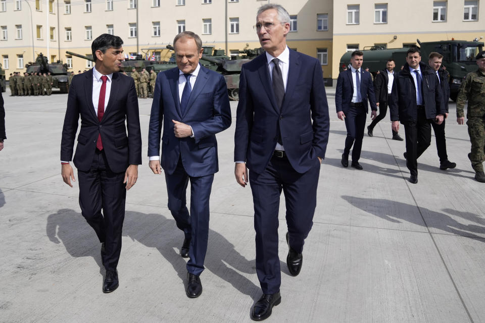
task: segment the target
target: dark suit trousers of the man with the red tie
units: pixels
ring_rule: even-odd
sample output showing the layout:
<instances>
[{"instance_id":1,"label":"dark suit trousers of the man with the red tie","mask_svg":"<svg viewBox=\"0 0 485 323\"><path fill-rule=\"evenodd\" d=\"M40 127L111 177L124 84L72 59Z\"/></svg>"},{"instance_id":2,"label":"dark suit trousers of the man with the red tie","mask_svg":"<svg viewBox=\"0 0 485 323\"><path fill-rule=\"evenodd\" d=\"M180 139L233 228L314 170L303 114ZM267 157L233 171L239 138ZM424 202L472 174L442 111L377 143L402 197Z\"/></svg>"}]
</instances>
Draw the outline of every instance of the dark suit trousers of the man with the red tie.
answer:
<instances>
[{"instance_id":1,"label":"dark suit trousers of the man with the red tie","mask_svg":"<svg viewBox=\"0 0 485 323\"><path fill-rule=\"evenodd\" d=\"M124 172L114 173L110 170L104 151L98 149L94 153L91 169L87 172L77 171L81 214L100 242L105 242L106 270L116 270L120 259L126 199L124 176Z\"/></svg>"}]
</instances>

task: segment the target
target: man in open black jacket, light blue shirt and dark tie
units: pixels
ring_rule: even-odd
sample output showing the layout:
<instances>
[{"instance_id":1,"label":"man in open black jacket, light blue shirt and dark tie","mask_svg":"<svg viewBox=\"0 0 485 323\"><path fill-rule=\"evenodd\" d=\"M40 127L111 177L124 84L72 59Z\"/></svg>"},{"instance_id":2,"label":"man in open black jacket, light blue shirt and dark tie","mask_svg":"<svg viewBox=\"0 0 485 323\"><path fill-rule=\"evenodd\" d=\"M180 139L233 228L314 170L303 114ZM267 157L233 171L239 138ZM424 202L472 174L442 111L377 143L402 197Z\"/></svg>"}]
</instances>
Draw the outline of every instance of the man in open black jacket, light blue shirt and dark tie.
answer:
<instances>
[{"instance_id":1,"label":"man in open black jacket, light blue shirt and dark tie","mask_svg":"<svg viewBox=\"0 0 485 323\"><path fill-rule=\"evenodd\" d=\"M399 122L406 134L406 166L409 182L418 182L417 158L431 143L431 122L443 123L445 102L434 71L421 62L421 52L411 47L406 53L406 64L394 79L389 107L393 130L399 131Z\"/></svg>"}]
</instances>

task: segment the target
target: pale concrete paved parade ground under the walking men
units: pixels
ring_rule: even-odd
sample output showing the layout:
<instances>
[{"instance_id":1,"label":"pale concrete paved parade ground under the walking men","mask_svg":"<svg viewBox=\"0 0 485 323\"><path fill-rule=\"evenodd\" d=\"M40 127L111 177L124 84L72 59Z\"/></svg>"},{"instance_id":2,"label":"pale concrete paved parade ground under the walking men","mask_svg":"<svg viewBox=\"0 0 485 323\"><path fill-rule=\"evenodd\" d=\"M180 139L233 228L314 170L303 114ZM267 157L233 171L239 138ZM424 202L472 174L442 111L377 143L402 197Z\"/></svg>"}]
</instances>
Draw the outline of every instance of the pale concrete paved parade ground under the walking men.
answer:
<instances>
[{"instance_id":1,"label":"pale concrete paved parade ground under the walking men","mask_svg":"<svg viewBox=\"0 0 485 323\"><path fill-rule=\"evenodd\" d=\"M455 104L446 134L456 169L439 169L433 135L418 159L419 183L411 184L389 115L364 137L364 169L341 166L345 124L336 118L334 89L327 91L330 137L303 268L298 277L288 273L281 204L282 302L266 321L485 322L485 184L473 179ZM251 188L233 174L237 102L231 127L217 136L204 291L189 299L186 259L178 255L183 234L167 208L164 176L148 167L152 99L139 100L143 165L127 193L120 287L103 294L100 243L81 216L77 182L70 188L60 175L67 94L9 95L0 151L0 322L251 321L261 290Z\"/></svg>"}]
</instances>

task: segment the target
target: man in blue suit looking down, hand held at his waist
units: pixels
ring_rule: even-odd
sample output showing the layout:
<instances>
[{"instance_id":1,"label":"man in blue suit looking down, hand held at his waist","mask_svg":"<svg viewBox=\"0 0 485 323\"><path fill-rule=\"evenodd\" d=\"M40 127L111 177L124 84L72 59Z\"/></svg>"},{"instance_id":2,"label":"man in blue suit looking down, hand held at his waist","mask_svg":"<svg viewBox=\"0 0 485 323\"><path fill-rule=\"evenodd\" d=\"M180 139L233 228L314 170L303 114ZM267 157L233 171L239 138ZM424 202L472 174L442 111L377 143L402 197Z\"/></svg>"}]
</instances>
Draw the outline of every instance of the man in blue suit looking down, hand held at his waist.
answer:
<instances>
[{"instance_id":1,"label":"man in blue suit looking down, hand held at his waist","mask_svg":"<svg viewBox=\"0 0 485 323\"><path fill-rule=\"evenodd\" d=\"M165 172L168 208L184 240L190 298L202 293L200 275L209 236L209 197L218 172L216 133L231 125L224 77L199 64L202 40L184 31L173 40L177 67L158 74L150 115L148 155L155 174ZM160 136L163 128L160 161ZM186 189L190 180L190 212Z\"/></svg>"}]
</instances>

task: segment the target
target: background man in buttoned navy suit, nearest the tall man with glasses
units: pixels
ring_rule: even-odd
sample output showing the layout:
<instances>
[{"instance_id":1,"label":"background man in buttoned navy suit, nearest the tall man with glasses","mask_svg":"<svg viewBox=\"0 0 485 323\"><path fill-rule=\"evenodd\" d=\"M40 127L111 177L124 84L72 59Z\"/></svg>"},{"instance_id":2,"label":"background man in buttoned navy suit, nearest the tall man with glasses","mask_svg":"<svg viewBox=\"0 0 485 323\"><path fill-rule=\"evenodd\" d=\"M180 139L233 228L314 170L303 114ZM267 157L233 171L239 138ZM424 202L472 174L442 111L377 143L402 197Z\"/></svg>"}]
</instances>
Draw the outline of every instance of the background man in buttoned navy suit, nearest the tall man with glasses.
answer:
<instances>
[{"instance_id":1,"label":"background man in buttoned navy suit, nearest the tall man with glasses","mask_svg":"<svg viewBox=\"0 0 485 323\"><path fill-rule=\"evenodd\" d=\"M349 166L349 153L352 145L352 164L355 169L361 170L359 164L362 139L364 138L365 119L369 112L367 100L370 102L371 119L377 114L375 104L374 86L369 72L362 71L364 54L355 50L350 59L350 69L338 74L337 87L335 89L335 106L337 117L345 121L347 138L345 139L342 165ZM355 143L354 143L355 141Z\"/></svg>"}]
</instances>

